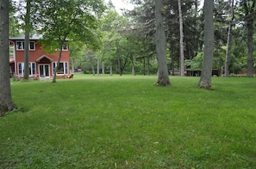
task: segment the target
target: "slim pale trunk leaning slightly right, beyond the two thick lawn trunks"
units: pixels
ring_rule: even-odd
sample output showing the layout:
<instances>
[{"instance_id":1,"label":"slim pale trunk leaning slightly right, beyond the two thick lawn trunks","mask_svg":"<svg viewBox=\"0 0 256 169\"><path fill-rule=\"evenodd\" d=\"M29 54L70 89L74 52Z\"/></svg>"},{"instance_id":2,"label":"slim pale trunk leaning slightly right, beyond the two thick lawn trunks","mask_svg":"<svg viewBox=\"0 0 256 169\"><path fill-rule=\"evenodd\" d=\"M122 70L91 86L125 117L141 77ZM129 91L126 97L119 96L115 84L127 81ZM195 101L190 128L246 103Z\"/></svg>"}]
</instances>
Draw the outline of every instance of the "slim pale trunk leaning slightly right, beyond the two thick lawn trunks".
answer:
<instances>
[{"instance_id":1,"label":"slim pale trunk leaning slightly right, beyond the two thick lawn trunks","mask_svg":"<svg viewBox=\"0 0 256 169\"><path fill-rule=\"evenodd\" d=\"M228 42L227 42L227 51L226 51L226 60L225 60L225 77L228 77L228 75L229 75L228 66L229 66L231 38L232 38L231 32L232 32L232 25L233 25L233 21L234 21L234 0L232 0L232 2L231 2L231 15L232 15L231 20L229 21L229 25L228 25Z\"/></svg>"}]
</instances>

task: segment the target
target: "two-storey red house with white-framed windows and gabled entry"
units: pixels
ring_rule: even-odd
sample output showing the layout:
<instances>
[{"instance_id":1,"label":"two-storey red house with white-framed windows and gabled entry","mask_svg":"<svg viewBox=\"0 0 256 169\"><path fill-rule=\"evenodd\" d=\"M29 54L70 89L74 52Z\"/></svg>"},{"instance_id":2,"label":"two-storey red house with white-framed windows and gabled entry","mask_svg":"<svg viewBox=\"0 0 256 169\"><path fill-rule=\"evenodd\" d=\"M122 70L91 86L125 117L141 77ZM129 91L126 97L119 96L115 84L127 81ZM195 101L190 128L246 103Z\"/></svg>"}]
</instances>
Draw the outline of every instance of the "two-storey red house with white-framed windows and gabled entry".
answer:
<instances>
[{"instance_id":1,"label":"two-storey red house with white-framed windows and gabled entry","mask_svg":"<svg viewBox=\"0 0 256 169\"><path fill-rule=\"evenodd\" d=\"M14 46L13 57L10 57L10 75L15 75L19 78L23 77L24 73L24 39L25 36L9 38L10 45ZM42 51L40 35L33 35L29 39L29 78L53 78L53 70L57 66L59 58L59 50L53 54L48 54ZM66 77L69 74L69 51L65 44L62 48L59 68L57 69L57 77Z\"/></svg>"}]
</instances>

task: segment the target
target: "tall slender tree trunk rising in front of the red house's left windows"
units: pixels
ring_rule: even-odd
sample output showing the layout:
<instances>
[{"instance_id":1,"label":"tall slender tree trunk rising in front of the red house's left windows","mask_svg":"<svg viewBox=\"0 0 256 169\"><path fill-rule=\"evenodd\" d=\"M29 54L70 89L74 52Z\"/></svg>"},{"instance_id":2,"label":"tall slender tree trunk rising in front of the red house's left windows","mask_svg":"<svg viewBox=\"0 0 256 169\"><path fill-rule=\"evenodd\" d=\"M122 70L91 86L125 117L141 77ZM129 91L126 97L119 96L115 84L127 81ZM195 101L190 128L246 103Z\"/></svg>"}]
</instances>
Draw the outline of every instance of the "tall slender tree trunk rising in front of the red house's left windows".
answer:
<instances>
[{"instance_id":1,"label":"tall slender tree trunk rising in front of the red house's left windows","mask_svg":"<svg viewBox=\"0 0 256 169\"><path fill-rule=\"evenodd\" d=\"M23 79L29 78L29 32L30 32L30 0L27 0L25 15L25 46L24 46L24 74Z\"/></svg>"}]
</instances>

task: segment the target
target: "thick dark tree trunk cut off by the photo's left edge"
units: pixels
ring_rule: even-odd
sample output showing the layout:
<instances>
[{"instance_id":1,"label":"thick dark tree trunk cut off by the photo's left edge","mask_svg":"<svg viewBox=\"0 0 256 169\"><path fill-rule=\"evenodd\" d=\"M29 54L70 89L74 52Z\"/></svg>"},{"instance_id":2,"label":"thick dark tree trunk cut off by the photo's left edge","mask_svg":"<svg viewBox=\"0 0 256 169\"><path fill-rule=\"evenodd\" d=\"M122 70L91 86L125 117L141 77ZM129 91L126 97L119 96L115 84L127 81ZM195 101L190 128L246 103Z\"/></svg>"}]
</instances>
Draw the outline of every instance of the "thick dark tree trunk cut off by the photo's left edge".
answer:
<instances>
[{"instance_id":1,"label":"thick dark tree trunk cut off by the photo's left edge","mask_svg":"<svg viewBox=\"0 0 256 169\"><path fill-rule=\"evenodd\" d=\"M0 0L0 117L16 108L9 81L9 1Z\"/></svg>"}]
</instances>

